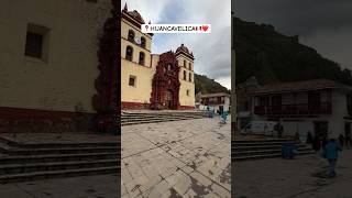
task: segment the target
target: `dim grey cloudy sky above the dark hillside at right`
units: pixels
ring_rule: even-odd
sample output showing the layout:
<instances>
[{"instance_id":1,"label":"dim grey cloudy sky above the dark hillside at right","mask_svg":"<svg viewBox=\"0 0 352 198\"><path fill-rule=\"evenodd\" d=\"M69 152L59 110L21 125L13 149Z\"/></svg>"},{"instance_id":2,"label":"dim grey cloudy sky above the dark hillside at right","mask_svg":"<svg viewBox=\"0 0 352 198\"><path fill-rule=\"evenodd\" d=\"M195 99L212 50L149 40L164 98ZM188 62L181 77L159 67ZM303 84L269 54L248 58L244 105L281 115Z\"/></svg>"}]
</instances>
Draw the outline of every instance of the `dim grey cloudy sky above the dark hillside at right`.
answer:
<instances>
[{"instance_id":1,"label":"dim grey cloudy sky above the dark hillside at right","mask_svg":"<svg viewBox=\"0 0 352 198\"><path fill-rule=\"evenodd\" d=\"M352 69L351 0L235 0L237 16L270 23L342 67Z\"/></svg>"}]
</instances>

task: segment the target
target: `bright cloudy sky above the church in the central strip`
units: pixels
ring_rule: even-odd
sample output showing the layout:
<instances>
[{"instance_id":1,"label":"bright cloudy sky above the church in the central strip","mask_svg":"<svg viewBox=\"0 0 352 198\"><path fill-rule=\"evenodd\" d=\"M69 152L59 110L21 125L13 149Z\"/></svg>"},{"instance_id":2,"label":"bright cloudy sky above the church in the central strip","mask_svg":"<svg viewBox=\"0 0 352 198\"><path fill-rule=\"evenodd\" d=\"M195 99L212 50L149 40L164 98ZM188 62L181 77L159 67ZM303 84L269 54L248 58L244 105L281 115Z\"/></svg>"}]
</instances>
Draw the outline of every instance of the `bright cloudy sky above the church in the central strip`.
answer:
<instances>
[{"instance_id":1,"label":"bright cloudy sky above the church in the central strip","mask_svg":"<svg viewBox=\"0 0 352 198\"><path fill-rule=\"evenodd\" d=\"M209 23L210 34L154 34L152 53L176 51L182 43L195 55L195 72L231 88L230 0L122 0L138 10L145 22Z\"/></svg>"}]
</instances>

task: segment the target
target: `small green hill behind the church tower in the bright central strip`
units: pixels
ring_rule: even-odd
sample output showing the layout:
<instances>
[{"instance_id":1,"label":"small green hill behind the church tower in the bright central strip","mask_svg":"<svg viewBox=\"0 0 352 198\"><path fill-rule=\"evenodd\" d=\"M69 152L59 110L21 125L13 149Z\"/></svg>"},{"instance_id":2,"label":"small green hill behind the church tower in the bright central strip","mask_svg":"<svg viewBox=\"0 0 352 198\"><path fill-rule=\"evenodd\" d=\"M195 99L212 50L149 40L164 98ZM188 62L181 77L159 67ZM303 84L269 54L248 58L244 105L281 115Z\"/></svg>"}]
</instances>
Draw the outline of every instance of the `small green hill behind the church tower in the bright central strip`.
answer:
<instances>
[{"instance_id":1,"label":"small green hill behind the church tower in the bright central strip","mask_svg":"<svg viewBox=\"0 0 352 198\"><path fill-rule=\"evenodd\" d=\"M201 94L215 94L215 92L227 92L231 94L231 91L215 81L213 79L208 78L207 76L195 74L195 84L196 84L196 94L201 91Z\"/></svg>"}]
</instances>

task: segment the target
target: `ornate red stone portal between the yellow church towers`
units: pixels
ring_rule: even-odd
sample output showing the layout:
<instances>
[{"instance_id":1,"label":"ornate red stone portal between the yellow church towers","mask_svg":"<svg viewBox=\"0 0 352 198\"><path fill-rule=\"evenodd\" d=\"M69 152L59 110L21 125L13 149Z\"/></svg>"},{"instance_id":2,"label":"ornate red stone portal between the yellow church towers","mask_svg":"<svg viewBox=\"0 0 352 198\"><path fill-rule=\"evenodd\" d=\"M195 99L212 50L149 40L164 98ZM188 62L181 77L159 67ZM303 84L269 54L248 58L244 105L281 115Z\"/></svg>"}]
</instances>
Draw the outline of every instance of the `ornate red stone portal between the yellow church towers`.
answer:
<instances>
[{"instance_id":1,"label":"ornate red stone portal between the yellow church towers","mask_svg":"<svg viewBox=\"0 0 352 198\"><path fill-rule=\"evenodd\" d=\"M153 78L151 109L179 108L179 67L175 54L169 51L160 56Z\"/></svg>"}]
</instances>

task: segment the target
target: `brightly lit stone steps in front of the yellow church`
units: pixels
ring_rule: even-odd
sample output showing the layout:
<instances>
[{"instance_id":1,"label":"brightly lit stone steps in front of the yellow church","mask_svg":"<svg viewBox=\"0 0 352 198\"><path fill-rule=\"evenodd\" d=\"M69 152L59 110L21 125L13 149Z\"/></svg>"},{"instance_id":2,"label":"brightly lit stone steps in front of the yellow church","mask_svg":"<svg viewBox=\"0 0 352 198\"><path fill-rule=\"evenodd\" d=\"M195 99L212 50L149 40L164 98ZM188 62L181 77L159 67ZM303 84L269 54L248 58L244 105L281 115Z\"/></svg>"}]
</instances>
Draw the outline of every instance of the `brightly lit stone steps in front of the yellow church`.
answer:
<instances>
[{"instance_id":1,"label":"brightly lit stone steps in front of the yellow church","mask_svg":"<svg viewBox=\"0 0 352 198\"><path fill-rule=\"evenodd\" d=\"M121 113L121 125L169 122L207 118L202 111L125 112Z\"/></svg>"}]
</instances>

